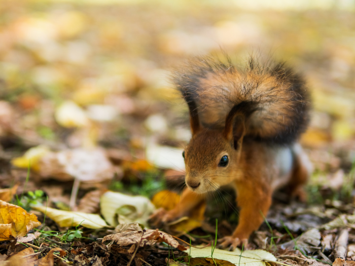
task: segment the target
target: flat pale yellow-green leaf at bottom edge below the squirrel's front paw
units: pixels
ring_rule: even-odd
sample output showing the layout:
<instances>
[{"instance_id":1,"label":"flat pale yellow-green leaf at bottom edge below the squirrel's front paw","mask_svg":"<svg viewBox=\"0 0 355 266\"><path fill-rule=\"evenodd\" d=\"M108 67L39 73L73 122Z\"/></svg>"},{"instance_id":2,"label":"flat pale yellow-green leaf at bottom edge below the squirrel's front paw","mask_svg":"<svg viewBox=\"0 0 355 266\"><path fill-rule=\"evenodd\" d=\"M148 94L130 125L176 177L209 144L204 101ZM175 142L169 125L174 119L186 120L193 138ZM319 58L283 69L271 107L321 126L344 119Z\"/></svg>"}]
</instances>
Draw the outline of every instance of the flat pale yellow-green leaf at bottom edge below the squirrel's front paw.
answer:
<instances>
[{"instance_id":1,"label":"flat pale yellow-green leaf at bottom edge below the squirrel's front paw","mask_svg":"<svg viewBox=\"0 0 355 266\"><path fill-rule=\"evenodd\" d=\"M201 258L201 257L206 259L212 258L211 247L204 247L204 248L190 247L190 250L186 250L185 252L188 253L193 258ZM274 255L261 249L241 251L240 249L237 248L234 251L226 251L226 250L216 248L213 252L213 258L222 259L234 265L245 265L245 266L265 266L267 265L265 262L277 263ZM230 264L227 263L226 265L230 265Z\"/></svg>"}]
</instances>

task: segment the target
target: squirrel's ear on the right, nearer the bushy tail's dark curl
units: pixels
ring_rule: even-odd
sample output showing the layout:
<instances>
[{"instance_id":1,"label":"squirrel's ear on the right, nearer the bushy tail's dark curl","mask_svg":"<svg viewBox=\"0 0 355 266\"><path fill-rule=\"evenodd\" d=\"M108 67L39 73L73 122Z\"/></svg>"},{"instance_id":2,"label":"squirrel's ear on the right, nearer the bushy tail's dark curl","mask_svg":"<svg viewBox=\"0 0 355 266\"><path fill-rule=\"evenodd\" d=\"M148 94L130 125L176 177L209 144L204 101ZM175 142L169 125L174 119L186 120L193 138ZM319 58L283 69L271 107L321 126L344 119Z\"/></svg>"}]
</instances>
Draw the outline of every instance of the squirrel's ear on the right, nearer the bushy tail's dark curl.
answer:
<instances>
[{"instance_id":1,"label":"squirrel's ear on the right, nearer the bushy tail's dark curl","mask_svg":"<svg viewBox=\"0 0 355 266\"><path fill-rule=\"evenodd\" d=\"M241 146L245 135L245 116L239 111L239 108L232 108L228 113L223 133L234 149L238 149Z\"/></svg>"}]
</instances>

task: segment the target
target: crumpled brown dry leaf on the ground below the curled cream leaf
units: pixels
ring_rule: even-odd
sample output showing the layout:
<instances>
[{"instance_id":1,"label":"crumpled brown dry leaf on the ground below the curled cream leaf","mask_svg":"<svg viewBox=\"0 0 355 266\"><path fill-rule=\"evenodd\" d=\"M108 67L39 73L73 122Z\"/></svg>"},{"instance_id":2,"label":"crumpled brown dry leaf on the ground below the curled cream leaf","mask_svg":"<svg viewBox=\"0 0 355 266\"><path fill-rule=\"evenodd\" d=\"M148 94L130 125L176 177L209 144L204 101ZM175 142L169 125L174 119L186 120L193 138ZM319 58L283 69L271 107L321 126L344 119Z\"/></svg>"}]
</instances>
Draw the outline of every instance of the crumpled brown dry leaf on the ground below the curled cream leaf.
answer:
<instances>
[{"instance_id":1,"label":"crumpled brown dry leaf on the ground below the curled cream leaf","mask_svg":"<svg viewBox=\"0 0 355 266\"><path fill-rule=\"evenodd\" d=\"M186 250L186 247L180 245L171 235L166 234L158 229L143 230L135 232L123 232L114 235L105 236L104 241L115 241L120 246L128 246L132 244L138 244L139 247L146 245L153 245L155 242L165 242L168 245L175 247L181 251Z\"/></svg>"}]
</instances>

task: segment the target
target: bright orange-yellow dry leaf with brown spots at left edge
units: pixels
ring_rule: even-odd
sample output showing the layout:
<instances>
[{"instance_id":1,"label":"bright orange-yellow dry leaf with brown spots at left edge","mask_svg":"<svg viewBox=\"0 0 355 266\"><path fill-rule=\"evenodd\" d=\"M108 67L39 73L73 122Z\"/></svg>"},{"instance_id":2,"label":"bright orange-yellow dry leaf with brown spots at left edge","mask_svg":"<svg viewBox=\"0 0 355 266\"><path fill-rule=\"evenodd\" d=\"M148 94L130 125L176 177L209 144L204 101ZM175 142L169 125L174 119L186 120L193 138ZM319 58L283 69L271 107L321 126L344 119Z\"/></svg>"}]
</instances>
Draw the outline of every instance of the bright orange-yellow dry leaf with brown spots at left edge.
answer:
<instances>
[{"instance_id":1,"label":"bright orange-yellow dry leaf with brown spots at left edge","mask_svg":"<svg viewBox=\"0 0 355 266\"><path fill-rule=\"evenodd\" d=\"M0 241L23 237L34 227L41 225L37 216L19 206L0 201Z\"/></svg>"}]
</instances>

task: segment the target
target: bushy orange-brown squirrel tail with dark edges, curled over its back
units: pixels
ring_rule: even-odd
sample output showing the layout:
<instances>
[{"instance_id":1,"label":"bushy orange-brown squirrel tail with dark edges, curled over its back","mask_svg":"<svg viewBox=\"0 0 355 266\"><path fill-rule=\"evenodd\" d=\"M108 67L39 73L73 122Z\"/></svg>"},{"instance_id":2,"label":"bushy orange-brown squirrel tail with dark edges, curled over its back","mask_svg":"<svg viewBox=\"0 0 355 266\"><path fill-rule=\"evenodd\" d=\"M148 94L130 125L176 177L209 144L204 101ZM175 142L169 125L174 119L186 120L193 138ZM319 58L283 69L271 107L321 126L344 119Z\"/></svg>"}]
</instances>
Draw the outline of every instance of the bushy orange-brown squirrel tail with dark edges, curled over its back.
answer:
<instances>
[{"instance_id":1,"label":"bushy orange-brown squirrel tail with dark edges, curled over its back","mask_svg":"<svg viewBox=\"0 0 355 266\"><path fill-rule=\"evenodd\" d=\"M289 144L309 121L304 81L284 63L261 64L251 57L242 69L228 57L200 57L176 70L173 82L205 128L222 129L229 111L239 105L247 118L245 137Z\"/></svg>"}]
</instances>

